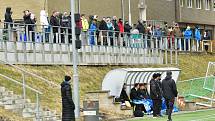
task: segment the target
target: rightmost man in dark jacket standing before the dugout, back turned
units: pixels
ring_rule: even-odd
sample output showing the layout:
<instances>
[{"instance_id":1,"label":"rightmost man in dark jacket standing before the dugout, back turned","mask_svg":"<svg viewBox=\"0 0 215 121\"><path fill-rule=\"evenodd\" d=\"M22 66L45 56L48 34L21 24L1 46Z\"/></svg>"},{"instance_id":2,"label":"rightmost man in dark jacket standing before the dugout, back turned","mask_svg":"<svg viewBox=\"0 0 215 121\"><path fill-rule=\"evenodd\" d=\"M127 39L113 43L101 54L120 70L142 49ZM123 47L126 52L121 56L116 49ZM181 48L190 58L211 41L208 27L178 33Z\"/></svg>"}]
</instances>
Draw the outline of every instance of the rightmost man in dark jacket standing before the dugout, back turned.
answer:
<instances>
[{"instance_id":1,"label":"rightmost man in dark jacket standing before the dugout, back turned","mask_svg":"<svg viewBox=\"0 0 215 121\"><path fill-rule=\"evenodd\" d=\"M166 107L167 107L167 110L166 110L168 114L167 121L172 121L171 115L172 115L175 98L178 95L178 91L175 84L175 80L172 79L171 71L166 72L166 78L162 81L162 90L163 90L163 96L165 98Z\"/></svg>"}]
</instances>

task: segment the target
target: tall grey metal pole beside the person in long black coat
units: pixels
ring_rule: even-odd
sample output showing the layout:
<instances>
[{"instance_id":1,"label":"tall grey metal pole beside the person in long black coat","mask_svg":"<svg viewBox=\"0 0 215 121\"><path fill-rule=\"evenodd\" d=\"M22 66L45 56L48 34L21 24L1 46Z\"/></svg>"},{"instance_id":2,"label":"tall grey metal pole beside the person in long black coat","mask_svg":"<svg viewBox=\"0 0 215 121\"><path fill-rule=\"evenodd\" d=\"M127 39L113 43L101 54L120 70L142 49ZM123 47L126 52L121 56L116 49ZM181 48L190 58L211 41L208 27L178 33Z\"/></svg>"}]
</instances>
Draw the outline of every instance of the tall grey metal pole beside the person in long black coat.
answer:
<instances>
[{"instance_id":1,"label":"tall grey metal pole beside the person in long black coat","mask_svg":"<svg viewBox=\"0 0 215 121\"><path fill-rule=\"evenodd\" d=\"M78 78L78 59L75 36L75 0L71 0L71 29L72 29L72 60L73 60L73 100L75 103L75 118L80 117L80 98L79 98L79 78Z\"/></svg>"}]
</instances>

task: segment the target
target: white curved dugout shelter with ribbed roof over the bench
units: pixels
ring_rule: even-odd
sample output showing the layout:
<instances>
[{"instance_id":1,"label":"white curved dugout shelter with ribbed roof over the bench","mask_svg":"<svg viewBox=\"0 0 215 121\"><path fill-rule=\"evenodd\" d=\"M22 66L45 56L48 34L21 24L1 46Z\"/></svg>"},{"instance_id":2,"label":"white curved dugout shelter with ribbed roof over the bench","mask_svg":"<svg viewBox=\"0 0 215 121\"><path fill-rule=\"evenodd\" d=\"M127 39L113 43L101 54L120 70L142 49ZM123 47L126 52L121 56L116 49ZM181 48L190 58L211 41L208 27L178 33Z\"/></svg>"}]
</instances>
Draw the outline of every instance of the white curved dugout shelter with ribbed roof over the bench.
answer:
<instances>
[{"instance_id":1,"label":"white curved dugout shelter with ribbed roof over the bench","mask_svg":"<svg viewBox=\"0 0 215 121\"><path fill-rule=\"evenodd\" d=\"M154 73L160 73L161 79L166 76L166 71L172 71L172 78L177 81L180 69L178 68L120 68L108 72L102 82L102 90L110 91L109 96L119 97L123 84L127 85L127 91L135 83L149 83Z\"/></svg>"}]
</instances>

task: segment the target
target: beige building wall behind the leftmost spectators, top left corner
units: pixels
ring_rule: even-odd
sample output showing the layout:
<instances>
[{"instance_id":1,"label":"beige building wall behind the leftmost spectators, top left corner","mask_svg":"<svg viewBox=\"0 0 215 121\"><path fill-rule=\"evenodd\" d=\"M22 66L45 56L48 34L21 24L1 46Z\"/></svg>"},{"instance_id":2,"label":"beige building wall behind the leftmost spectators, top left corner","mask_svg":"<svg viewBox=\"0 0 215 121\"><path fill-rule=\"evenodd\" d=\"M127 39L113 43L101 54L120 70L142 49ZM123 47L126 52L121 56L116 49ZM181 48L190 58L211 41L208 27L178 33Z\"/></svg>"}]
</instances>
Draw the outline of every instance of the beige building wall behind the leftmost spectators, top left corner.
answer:
<instances>
[{"instance_id":1,"label":"beige building wall behind the leftmost spectators, top left corner","mask_svg":"<svg viewBox=\"0 0 215 121\"><path fill-rule=\"evenodd\" d=\"M4 20L6 7L11 7L13 19L22 19L23 11L30 10L39 20L40 10L44 8L45 0L1 0L0 2L0 19Z\"/></svg>"}]
</instances>

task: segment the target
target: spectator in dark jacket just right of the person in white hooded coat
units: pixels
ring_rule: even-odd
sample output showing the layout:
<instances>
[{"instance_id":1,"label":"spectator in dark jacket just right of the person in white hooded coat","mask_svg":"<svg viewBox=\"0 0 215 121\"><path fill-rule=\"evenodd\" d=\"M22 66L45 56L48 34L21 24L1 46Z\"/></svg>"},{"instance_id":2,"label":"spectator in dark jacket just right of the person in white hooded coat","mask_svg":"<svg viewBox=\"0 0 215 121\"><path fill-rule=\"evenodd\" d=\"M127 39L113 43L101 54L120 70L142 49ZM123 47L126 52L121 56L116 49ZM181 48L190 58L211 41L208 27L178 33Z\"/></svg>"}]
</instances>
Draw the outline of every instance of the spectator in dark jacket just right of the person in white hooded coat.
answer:
<instances>
[{"instance_id":1,"label":"spectator in dark jacket just right of the person in white hooded coat","mask_svg":"<svg viewBox=\"0 0 215 121\"><path fill-rule=\"evenodd\" d=\"M52 25L53 34L54 34L54 43L56 43L56 41L57 41L58 28L60 26L60 23L59 23L59 20L58 20L57 16L58 16L58 12L53 11L53 14L52 14L52 16L50 18L50 25Z\"/></svg>"}]
</instances>

